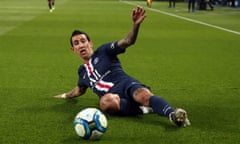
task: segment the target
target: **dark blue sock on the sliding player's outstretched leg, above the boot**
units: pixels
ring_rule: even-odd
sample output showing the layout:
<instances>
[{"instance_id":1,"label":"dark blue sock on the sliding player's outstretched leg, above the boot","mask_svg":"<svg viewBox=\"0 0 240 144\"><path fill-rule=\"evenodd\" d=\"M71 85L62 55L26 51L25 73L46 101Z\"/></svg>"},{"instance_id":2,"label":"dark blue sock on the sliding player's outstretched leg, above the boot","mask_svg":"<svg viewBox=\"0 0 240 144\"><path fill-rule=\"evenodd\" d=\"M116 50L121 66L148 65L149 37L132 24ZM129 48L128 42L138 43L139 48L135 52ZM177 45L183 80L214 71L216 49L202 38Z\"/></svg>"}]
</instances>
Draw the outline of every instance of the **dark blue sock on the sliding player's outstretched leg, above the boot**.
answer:
<instances>
[{"instance_id":1,"label":"dark blue sock on the sliding player's outstretched leg, above the boot","mask_svg":"<svg viewBox=\"0 0 240 144\"><path fill-rule=\"evenodd\" d=\"M169 117L169 114L174 111L174 109L159 96L151 96L149 105L155 113L165 117Z\"/></svg>"}]
</instances>

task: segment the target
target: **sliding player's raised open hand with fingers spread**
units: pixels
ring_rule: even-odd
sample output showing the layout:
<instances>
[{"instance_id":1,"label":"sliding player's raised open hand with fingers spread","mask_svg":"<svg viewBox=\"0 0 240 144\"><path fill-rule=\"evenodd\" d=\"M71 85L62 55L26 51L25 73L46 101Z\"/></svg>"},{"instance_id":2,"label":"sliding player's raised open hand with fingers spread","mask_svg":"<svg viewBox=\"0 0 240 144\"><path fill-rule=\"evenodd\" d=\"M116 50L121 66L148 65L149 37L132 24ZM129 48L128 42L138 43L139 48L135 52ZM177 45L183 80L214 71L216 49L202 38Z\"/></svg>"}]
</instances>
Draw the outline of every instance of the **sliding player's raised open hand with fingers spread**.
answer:
<instances>
[{"instance_id":1,"label":"sliding player's raised open hand with fingers spread","mask_svg":"<svg viewBox=\"0 0 240 144\"><path fill-rule=\"evenodd\" d=\"M141 24L146 17L145 13L146 11L142 7L137 6L132 12L132 20L134 24Z\"/></svg>"}]
</instances>

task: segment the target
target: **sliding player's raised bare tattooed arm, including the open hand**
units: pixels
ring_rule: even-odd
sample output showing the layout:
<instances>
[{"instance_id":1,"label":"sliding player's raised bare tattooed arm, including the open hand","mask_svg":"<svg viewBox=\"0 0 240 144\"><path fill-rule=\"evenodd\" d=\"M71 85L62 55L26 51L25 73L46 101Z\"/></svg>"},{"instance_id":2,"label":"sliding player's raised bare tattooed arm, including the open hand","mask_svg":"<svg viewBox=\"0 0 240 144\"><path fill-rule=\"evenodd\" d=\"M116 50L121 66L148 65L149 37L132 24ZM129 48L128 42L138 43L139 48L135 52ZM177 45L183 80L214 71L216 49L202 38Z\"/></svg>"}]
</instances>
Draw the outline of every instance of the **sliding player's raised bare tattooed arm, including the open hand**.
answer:
<instances>
[{"instance_id":1,"label":"sliding player's raised bare tattooed arm, including the open hand","mask_svg":"<svg viewBox=\"0 0 240 144\"><path fill-rule=\"evenodd\" d=\"M133 45L135 43L140 24L143 22L144 18L146 17L145 12L146 11L139 6L137 6L132 11L133 27L125 38L118 41L118 46L120 48L127 48L128 46Z\"/></svg>"}]
</instances>

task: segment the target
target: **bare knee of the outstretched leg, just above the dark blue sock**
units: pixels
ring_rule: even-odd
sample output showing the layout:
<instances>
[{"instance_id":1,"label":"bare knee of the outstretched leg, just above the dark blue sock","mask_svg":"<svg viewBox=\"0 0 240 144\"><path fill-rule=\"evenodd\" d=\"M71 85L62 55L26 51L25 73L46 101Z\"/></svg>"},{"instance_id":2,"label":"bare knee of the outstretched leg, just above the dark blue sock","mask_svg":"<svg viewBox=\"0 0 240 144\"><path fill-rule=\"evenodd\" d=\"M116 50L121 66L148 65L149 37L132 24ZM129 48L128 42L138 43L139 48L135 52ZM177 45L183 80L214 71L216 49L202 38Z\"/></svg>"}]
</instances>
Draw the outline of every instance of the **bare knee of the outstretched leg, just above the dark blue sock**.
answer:
<instances>
[{"instance_id":1,"label":"bare knee of the outstretched leg, just above the dark blue sock","mask_svg":"<svg viewBox=\"0 0 240 144\"><path fill-rule=\"evenodd\" d=\"M143 106L149 106L151 96L153 93L147 88L139 88L133 93L134 100Z\"/></svg>"}]
</instances>

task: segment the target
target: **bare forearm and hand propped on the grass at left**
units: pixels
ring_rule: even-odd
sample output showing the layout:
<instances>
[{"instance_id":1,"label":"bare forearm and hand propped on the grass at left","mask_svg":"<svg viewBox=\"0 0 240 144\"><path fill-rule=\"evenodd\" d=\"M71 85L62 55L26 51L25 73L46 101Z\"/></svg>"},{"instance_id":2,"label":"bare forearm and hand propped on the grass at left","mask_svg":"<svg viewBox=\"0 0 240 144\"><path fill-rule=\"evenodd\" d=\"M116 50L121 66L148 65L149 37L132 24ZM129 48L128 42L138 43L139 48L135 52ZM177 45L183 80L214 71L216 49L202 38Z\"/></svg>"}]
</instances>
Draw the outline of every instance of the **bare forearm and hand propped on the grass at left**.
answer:
<instances>
[{"instance_id":1,"label":"bare forearm and hand propped on the grass at left","mask_svg":"<svg viewBox=\"0 0 240 144\"><path fill-rule=\"evenodd\" d=\"M63 94L56 95L54 97L55 98L64 98L64 99L65 98L75 98L75 97L83 95L85 92L86 92L86 88L76 86L71 91L63 93Z\"/></svg>"}]
</instances>

